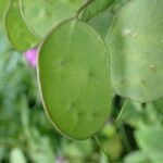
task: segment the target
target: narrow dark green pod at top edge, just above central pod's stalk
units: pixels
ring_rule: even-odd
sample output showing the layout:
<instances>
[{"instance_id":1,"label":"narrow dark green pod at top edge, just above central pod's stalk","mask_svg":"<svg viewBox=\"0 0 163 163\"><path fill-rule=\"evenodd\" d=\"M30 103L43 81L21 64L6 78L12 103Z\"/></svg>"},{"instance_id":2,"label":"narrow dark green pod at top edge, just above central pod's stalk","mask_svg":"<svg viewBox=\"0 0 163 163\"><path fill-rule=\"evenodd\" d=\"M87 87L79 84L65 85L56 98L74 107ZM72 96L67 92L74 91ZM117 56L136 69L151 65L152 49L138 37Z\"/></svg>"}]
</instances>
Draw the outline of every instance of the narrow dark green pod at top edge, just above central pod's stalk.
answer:
<instances>
[{"instance_id":1,"label":"narrow dark green pod at top edge, just above central pod's stalk","mask_svg":"<svg viewBox=\"0 0 163 163\"><path fill-rule=\"evenodd\" d=\"M100 12L104 11L114 3L115 0L93 0L85 10L82 20L88 22Z\"/></svg>"}]
</instances>

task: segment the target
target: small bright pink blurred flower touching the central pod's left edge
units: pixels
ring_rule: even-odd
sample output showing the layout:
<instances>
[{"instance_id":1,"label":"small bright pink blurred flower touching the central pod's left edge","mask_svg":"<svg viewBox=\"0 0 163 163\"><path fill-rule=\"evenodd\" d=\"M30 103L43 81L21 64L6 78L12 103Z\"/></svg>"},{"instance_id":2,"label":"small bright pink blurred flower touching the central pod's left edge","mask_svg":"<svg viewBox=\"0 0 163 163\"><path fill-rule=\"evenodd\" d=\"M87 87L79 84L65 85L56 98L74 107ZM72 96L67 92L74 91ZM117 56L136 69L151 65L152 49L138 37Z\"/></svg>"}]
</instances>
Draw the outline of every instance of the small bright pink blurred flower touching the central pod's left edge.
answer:
<instances>
[{"instance_id":1,"label":"small bright pink blurred flower touching the central pod's left edge","mask_svg":"<svg viewBox=\"0 0 163 163\"><path fill-rule=\"evenodd\" d=\"M29 49L25 52L25 59L33 67L36 67L37 64L37 48Z\"/></svg>"}]
</instances>

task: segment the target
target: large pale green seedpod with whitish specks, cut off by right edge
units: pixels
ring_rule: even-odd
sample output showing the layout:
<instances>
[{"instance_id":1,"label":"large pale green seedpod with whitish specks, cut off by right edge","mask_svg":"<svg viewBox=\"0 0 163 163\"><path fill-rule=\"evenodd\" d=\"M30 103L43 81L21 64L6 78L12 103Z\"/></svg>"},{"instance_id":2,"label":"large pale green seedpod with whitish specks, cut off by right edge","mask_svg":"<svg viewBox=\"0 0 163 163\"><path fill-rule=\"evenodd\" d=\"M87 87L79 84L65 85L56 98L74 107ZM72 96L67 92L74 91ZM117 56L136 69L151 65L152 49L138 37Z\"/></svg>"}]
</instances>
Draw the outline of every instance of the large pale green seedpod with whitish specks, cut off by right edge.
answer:
<instances>
[{"instance_id":1,"label":"large pale green seedpod with whitish specks, cut off by right edge","mask_svg":"<svg viewBox=\"0 0 163 163\"><path fill-rule=\"evenodd\" d=\"M163 0L133 0L106 37L111 78L122 97L147 102L163 96Z\"/></svg>"}]
</instances>

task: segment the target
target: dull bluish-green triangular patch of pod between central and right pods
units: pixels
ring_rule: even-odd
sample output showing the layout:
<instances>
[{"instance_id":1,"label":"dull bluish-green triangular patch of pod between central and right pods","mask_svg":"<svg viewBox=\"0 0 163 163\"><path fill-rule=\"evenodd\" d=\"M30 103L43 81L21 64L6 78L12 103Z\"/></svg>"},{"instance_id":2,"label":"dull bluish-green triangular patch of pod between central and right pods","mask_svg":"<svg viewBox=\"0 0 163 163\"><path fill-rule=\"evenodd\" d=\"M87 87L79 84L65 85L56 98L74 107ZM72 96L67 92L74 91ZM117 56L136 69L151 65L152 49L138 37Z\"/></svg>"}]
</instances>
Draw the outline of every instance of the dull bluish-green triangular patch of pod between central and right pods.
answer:
<instances>
[{"instance_id":1,"label":"dull bluish-green triangular patch of pod between central and right pods","mask_svg":"<svg viewBox=\"0 0 163 163\"><path fill-rule=\"evenodd\" d=\"M113 20L113 13L110 9L104 10L97 16L92 17L88 24L91 25L104 39Z\"/></svg>"}]
</instances>

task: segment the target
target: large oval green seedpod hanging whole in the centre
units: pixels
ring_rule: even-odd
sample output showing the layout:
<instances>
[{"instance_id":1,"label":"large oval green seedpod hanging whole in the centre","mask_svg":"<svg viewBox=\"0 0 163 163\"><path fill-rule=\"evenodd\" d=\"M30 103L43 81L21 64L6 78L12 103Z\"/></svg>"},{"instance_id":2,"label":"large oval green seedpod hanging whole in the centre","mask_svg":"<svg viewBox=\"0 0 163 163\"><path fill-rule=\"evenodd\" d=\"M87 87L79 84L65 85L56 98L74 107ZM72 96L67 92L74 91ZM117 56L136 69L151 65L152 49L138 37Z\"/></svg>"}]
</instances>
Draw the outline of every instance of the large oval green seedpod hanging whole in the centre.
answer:
<instances>
[{"instance_id":1,"label":"large oval green seedpod hanging whole in the centre","mask_svg":"<svg viewBox=\"0 0 163 163\"><path fill-rule=\"evenodd\" d=\"M101 37L80 21L62 23L42 43L37 70L55 128L77 140L97 134L111 110L109 55Z\"/></svg>"}]
</instances>

